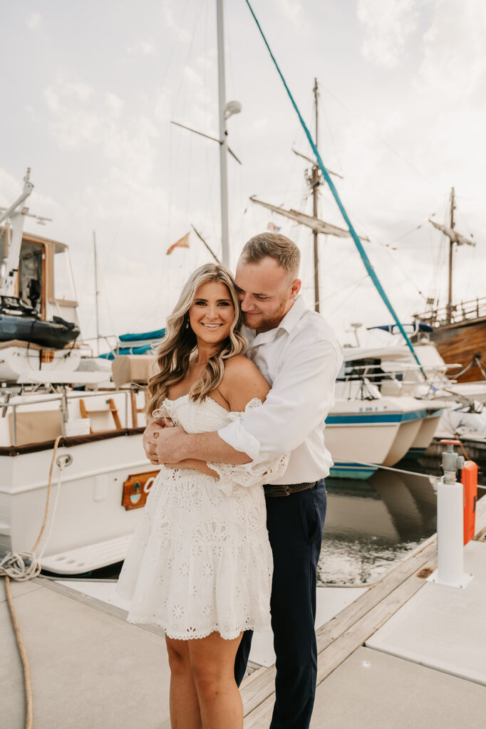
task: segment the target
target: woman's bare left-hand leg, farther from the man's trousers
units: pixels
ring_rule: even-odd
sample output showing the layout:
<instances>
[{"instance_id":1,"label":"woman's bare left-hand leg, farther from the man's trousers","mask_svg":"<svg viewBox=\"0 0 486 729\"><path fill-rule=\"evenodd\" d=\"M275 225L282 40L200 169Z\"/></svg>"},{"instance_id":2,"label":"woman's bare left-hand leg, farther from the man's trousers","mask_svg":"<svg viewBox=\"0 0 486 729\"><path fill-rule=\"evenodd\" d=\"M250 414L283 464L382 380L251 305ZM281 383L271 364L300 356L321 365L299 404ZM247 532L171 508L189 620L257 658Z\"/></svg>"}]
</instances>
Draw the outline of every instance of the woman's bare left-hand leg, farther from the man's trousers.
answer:
<instances>
[{"instance_id":1,"label":"woman's bare left-hand leg, farther from the man's trousers","mask_svg":"<svg viewBox=\"0 0 486 729\"><path fill-rule=\"evenodd\" d=\"M201 729L201 712L190 666L189 643L187 640L173 640L166 636L171 687L169 704L171 729Z\"/></svg>"}]
</instances>

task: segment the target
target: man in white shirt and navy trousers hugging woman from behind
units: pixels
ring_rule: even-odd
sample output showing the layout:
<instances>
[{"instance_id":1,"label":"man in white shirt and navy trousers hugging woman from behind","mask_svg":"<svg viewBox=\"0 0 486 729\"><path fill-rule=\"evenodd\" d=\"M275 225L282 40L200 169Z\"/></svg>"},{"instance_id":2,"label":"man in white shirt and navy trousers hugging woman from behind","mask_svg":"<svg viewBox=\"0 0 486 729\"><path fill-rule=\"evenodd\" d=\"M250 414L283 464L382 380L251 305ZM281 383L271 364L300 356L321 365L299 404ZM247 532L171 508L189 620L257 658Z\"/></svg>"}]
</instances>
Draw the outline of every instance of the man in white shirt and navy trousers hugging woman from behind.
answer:
<instances>
[{"instance_id":1,"label":"man in white shirt and navy trousers hugging woman from behind","mask_svg":"<svg viewBox=\"0 0 486 729\"><path fill-rule=\"evenodd\" d=\"M317 676L317 560L332 465L324 420L342 363L339 343L320 314L298 295L300 252L284 235L261 233L244 246L236 286L249 331L247 356L271 385L266 401L219 432L188 434L180 426L147 426L153 464L185 458L243 464L290 451L288 469L264 486L274 555L271 625L277 677L271 729L307 729ZM235 677L244 677L252 634L245 633Z\"/></svg>"}]
</instances>

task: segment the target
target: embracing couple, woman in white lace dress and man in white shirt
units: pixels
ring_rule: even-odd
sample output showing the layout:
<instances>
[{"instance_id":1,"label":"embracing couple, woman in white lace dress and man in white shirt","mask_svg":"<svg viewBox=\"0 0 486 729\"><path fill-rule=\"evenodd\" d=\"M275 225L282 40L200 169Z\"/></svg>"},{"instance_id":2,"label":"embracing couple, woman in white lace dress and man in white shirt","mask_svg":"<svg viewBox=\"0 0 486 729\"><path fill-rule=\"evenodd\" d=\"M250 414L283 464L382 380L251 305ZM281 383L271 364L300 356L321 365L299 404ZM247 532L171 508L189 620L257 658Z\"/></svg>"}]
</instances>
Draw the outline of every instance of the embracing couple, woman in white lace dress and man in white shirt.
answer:
<instances>
[{"instance_id":1,"label":"embracing couple, woman in white lace dress and man in white shirt","mask_svg":"<svg viewBox=\"0 0 486 729\"><path fill-rule=\"evenodd\" d=\"M271 628L271 729L307 729L339 343L299 295L283 235L207 264L167 319L144 447L161 471L120 574L128 620L166 633L172 729L241 729L253 630Z\"/></svg>"}]
</instances>

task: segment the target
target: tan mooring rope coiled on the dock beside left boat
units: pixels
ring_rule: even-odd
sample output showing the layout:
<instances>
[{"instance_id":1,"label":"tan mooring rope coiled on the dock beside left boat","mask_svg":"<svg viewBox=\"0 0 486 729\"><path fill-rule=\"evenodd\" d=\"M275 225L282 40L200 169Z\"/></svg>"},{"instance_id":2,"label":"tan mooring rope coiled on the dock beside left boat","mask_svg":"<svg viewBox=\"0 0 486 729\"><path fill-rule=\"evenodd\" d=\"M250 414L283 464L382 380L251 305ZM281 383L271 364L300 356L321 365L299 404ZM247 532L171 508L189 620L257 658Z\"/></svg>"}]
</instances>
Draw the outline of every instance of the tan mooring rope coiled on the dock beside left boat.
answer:
<instances>
[{"instance_id":1,"label":"tan mooring rope coiled on the dock beside left boat","mask_svg":"<svg viewBox=\"0 0 486 729\"><path fill-rule=\"evenodd\" d=\"M49 514L49 506L50 506L50 493L52 491L52 486L53 486L53 470L54 470L54 464L55 464L55 455L58 451L58 445L59 445L59 441L61 440L61 437L62 436L59 435L55 439L54 448L53 448L53 457L50 461L49 483L47 484L47 499L45 502L44 521L42 521L42 527L39 532L39 537L37 538L37 541L36 541L34 547L32 547L30 552L11 552L11 553L7 554L0 561L0 576L4 575L4 577L5 577L5 593L7 595L7 604L9 606L10 618L12 620L12 627L15 632L15 640L17 641L17 647L18 647L18 652L20 655L20 660L22 661L23 687L24 687L24 693L26 696L26 717L25 717L25 724L24 724L25 729L32 729L33 722L34 722L34 712L32 710L31 668L28 663L28 656L27 656L26 648L23 644L22 634L20 632L20 625L18 623L17 615L15 614L15 609L13 606L12 593L10 591L10 580L16 580L17 582L26 582L26 580L32 580L34 577L37 577L37 575L40 574L40 571L41 571L40 559L42 558L42 555L44 554L44 550L45 550L45 547L49 540L50 533L53 529L55 507L57 507L57 504L58 504L59 491L61 488L61 476L62 476L62 472L63 472L63 468L64 468L64 464L62 464L62 463L59 466L58 493L56 494L53 518L50 523L49 534L47 534L47 539L45 541L44 547L42 547L42 551L39 555L39 558L36 557L35 550L40 544L40 541L42 539L42 535L44 534L45 526L47 523L47 515Z\"/></svg>"}]
</instances>

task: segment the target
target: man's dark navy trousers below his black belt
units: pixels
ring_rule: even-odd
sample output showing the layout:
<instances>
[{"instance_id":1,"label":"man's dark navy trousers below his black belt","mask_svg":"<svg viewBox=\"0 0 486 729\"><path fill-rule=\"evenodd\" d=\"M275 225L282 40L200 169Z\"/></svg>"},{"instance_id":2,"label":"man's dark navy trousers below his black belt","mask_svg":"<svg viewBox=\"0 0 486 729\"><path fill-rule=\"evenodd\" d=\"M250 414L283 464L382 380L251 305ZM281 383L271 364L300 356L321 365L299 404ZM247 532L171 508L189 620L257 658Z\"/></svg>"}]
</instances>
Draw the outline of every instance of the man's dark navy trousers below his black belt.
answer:
<instances>
[{"instance_id":1,"label":"man's dark navy trousers below his black belt","mask_svg":"<svg viewBox=\"0 0 486 729\"><path fill-rule=\"evenodd\" d=\"M324 480L306 491L266 498L266 525L274 555L270 606L277 668L270 729L308 729L310 724L317 678L317 560L325 508ZM252 631L246 631L236 654L238 685L251 641Z\"/></svg>"}]
</instances>

